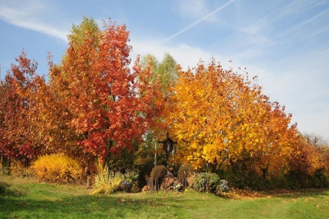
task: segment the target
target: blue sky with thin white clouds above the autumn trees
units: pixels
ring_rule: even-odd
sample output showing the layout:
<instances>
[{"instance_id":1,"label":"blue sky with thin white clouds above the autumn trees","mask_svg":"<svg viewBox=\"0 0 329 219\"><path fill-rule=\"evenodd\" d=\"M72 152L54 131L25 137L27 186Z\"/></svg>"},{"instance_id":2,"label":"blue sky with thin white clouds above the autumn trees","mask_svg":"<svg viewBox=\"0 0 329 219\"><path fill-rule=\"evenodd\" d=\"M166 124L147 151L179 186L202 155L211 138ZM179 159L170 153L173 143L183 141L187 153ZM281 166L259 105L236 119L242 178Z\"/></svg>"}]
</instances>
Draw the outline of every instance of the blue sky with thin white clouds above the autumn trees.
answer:
<instances>
[{"instance_id":1,"label":"blue sky with thin white clouds above the autumn trees","mask_svg":"<svg viewBox=\"0 0 329 219\"><path fill-rule=\"evenodd\" d=\"M247 67L301 132L329 139L329 0L0 0L1 78L23 48L47 75L47 51L59 62L82 16L125 23L132 60L169 52L183 69L211 57Z\"/></svg>"}]
</instances>

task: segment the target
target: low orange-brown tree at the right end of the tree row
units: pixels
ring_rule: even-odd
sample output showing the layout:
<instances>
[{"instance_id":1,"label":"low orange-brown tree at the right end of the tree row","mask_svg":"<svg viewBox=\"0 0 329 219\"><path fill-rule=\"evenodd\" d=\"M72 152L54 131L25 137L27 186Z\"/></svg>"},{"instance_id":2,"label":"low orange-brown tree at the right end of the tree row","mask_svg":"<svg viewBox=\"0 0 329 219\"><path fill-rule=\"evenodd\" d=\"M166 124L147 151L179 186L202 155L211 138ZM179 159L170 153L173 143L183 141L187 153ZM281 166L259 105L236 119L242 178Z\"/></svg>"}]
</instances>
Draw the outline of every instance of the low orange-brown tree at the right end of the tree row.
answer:
<instances>
[{"instance_id":1,"label":"low orange-brown tree at the right end of the tree row","mask_svg":"<svg viewBox=\"0 0 329 219\"><path fill-rule=\"evenodd\" d=\"M263 121L265 141L254 153L256 166L263 172L263 178L278 178L280 174L301 174L313 176L315 172L326 171L324 153L320 137L300 135L297 124L291 125L292 115L284 113L284 106L271 103L271 111Z\"/></svg>"}]
</instances>

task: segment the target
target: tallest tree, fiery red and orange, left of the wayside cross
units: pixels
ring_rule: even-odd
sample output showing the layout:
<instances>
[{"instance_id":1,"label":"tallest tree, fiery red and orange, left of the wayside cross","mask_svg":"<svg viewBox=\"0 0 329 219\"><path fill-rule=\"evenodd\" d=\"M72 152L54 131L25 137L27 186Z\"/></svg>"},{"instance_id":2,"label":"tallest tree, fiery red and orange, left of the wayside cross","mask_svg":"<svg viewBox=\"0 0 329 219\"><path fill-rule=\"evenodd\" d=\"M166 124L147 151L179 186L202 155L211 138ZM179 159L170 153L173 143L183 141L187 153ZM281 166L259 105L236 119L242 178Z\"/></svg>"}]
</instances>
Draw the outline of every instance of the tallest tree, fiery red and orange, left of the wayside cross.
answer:
<instances>
[{"instance_id":1,"label":"tallest tree, fiery red and orange, left of the wayside cross","mask_svg":"<svg viewBox=\"0 0 329 219\"><path fill-rule=\"evenodd\" d=\"M128 37L125 25L109 21L101 30L84 17L73 25L69 48L50 75L58 97L68 104L70 126L84 137L80 146L108 168L111 154L133 150L132 140L141 140L158 89L138 58L130 71Z\"/></svg>"}]
</instances>

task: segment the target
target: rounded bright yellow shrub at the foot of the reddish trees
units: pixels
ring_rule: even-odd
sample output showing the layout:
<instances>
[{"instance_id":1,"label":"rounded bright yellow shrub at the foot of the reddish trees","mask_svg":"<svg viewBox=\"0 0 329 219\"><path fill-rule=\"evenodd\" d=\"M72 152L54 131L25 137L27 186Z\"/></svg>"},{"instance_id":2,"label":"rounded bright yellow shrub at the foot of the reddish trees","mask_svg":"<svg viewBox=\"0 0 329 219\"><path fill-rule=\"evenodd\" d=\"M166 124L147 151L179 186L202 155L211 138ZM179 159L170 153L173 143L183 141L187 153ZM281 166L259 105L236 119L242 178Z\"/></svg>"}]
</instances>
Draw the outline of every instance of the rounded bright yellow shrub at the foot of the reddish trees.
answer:
<instances>
[{"instance_id":1,"label":"rounded bright yellow shrub at the foot of the reddish trees","mask_svg":"<svg viewBox=\"0 0 329 219\"><path fill-rule=\"evenodd\" d=\"M40 157L31 169L39 180L50 183L74 183L82 177L82 168L77 161L58 154Z\"/></svg>"}]
</instances>

